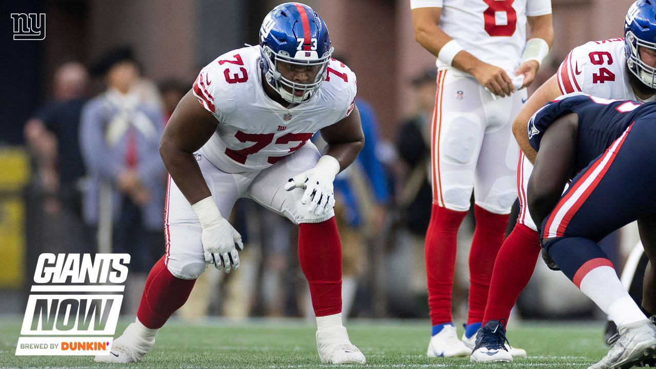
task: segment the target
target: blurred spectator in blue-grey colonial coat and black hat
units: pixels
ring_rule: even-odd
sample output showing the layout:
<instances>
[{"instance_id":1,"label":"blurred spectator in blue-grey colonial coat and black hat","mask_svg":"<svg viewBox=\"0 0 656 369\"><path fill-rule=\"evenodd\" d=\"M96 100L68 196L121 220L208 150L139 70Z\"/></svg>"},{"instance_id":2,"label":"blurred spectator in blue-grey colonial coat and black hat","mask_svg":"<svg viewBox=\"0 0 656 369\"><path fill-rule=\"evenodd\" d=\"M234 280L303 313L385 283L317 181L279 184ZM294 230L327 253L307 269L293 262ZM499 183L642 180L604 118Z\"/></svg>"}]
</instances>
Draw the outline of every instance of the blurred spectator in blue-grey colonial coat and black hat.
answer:
<instances>
[{"instance_id":1,"label":"blurred spectator in blue-grey colonial coat and black hat","mask_svg":"<svg viewBox=\"0 0 656 369\"><path fill-rule=\"evenodd\" d=\"M132 289L138 299L148 269L164 251L163 118L154 109L156 95L135 88L141 80L131 49L104 54L93 71L104 77L107 89L82 113L80 140L89 174L84 217L97 227L99 250L110 252L104 249L111 247L111 252L131 254Z\"/></svg>"}]
</instances>

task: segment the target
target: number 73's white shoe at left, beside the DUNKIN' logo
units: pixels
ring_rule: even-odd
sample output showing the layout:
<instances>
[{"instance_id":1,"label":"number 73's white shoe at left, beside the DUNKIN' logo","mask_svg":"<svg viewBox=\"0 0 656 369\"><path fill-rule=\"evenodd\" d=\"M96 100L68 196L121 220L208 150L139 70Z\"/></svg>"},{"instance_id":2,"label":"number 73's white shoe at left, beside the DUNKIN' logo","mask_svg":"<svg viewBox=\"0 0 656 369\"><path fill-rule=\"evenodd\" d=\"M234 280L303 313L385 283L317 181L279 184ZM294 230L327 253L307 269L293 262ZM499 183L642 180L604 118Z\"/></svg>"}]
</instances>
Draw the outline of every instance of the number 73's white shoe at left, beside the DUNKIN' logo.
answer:
<instances>
[{"instance_id":1,"label":"number 73's white shoe at left, beside the DUNKIN' logo","mask_svg":"<svg viewBox=\"0 0 656 369\"><path fill-rule=\"evenodd\" d=\"M140 362L155 345L155 339L148 341L138 334L136 323L132 323L120 337L114 339L110 355L96 355L95 362Z\"/></svg>"}]
</instances>

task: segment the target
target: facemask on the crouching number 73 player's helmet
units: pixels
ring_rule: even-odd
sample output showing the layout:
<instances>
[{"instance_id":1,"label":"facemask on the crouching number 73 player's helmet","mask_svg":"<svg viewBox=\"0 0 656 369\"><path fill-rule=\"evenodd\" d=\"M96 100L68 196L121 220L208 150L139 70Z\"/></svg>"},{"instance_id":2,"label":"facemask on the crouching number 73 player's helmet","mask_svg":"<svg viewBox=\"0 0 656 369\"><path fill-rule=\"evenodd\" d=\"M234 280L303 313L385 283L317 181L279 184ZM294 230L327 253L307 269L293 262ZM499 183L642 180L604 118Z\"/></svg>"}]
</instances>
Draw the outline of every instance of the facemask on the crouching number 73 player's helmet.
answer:
<instances>
[{"instance_id":1,"label":"facemask on the crouching number 73 player's helmet","mask_svg":"<svg viewBox=\"0 0 656 369\"><path fill-rule=\"evenodd\" d=\"M273 87L282 98L293 104L300 104L310 100L319 89L326 77L326 68L333 54L333 47L320 58L316 51L298 51L295 57L289 56L286 51L274 53L268 46L262 46L262 69L266 82ZM314 77L310 83L298 83L281 74L282 68L308 68Z\"/></svg>"}]
</instances>

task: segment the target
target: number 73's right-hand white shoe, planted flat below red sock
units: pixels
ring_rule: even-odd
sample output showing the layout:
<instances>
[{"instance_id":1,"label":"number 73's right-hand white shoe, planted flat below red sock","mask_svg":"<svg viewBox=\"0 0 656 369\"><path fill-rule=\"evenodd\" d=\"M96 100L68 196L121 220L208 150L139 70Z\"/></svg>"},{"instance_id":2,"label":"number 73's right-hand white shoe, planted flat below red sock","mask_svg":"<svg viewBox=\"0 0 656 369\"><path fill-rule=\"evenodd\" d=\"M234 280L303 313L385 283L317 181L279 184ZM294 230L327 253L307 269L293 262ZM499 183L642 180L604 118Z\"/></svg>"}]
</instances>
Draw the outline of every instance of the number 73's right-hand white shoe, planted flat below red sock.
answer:
<instances>
[{"instance_id":1,"label":"number 73's right-hand white shoe, planted flat below red sock","mask_svg":"<svg viewBox=\"0 0 656 369\"><path fill-rule=\"evenodd\" d=\"M364 364L367 359L348 339L344 326L317 331L317 351L323 364Z\"/></svg>"}]
</instances>

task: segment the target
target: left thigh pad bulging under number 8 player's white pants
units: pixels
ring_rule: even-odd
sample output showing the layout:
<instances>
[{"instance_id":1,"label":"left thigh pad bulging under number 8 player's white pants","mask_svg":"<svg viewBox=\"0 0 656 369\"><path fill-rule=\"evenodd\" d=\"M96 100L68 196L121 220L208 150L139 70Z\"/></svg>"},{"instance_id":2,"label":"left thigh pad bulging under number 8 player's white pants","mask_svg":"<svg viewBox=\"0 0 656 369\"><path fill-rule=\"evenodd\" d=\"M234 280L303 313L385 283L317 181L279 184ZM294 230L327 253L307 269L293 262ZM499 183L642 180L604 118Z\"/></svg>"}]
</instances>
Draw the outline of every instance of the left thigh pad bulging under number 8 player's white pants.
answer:
<instances>
[{"instance_id":1,"label":"left thigh pad bulging under number 8 player's white pants","mask_svg":"<svg viewBox=\"0 0 656 369\"><path fill-rule=\"evenodd\" d=\"M478 133L480 123L468 117L459 116L451 121L449 131L441 142L441 150L445 156L459 163L468 163L472 160L476 148L479 146Z\"/></svg>"}]
</instances>

